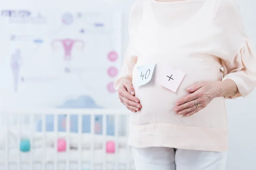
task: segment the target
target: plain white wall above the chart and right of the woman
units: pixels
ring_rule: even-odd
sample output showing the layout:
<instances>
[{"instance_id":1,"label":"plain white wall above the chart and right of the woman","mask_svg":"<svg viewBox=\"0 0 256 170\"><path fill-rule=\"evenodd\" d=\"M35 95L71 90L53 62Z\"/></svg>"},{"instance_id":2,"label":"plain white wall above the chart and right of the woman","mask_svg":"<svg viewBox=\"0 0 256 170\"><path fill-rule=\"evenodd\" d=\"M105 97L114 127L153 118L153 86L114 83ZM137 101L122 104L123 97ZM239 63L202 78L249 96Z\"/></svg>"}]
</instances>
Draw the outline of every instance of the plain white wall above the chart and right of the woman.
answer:
<instances>
[{"instance_id":1,"label":"plain white wall above the chart and right of the woman","mask_svg":"<svg viewBox=\"0 0 256 170\"><path fill-rule=\"evenodd\" d=\"M67 8L123 11L123 47L128 43L128 13L135 0L0 0L0 8ZM238 0L248 36L256 44L255 0ZM256 47L256 46L255 46ZM247 99L227 101L230 149L227 170L256 170L256 91Z\"/></svg>"}]
</instances>

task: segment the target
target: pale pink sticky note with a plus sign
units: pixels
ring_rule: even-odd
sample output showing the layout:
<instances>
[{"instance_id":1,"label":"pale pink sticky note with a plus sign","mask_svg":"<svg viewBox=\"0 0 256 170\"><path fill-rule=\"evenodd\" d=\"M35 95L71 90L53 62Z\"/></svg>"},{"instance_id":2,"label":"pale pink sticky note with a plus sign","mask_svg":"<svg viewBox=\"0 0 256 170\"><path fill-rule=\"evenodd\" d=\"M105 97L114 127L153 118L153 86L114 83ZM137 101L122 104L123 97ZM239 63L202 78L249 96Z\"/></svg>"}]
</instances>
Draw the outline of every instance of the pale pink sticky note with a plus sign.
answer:
<instances>
[{"instance_id":1,"label":"pale pink sticky note with a plus sign","mask_svg":"<svg viewBox=\"0 0 256 170\"><path fill-rule=\"evenodd\" d=\"M185 73L171 66L163 66L159 68L157 74L157 82L165 88L170 89L173 92L177 91Z\"/></svg>"}]
</instances>

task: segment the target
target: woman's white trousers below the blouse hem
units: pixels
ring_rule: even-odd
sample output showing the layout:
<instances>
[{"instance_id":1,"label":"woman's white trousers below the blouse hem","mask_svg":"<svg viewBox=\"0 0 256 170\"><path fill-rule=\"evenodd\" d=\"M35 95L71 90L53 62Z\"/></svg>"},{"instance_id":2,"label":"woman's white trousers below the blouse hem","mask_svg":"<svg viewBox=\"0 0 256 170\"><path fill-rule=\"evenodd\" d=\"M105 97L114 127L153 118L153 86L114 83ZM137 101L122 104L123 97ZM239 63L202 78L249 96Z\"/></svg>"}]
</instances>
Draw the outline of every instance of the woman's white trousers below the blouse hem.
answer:
<instances>
[{"instance_id":1,"label":"woman's white trousers below the blouse hem","mask_svg":"<svg viewBox=\"0 0 256 170\"><path fill-rule=\"evenodd\" d=\"M225 170L227 152L132 147L136 170Z\"/></svg>"}]
</instances>

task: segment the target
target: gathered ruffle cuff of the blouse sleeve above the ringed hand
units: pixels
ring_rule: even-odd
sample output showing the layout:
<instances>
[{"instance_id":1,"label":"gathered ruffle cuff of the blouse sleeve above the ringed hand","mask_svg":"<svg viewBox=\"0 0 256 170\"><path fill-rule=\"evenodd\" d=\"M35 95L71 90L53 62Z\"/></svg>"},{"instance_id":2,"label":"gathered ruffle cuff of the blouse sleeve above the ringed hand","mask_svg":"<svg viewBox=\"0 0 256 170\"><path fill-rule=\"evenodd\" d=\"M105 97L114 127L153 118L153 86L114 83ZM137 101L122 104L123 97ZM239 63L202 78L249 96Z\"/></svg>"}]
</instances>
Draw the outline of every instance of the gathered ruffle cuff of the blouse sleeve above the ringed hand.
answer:
<instances>
[{"instance_id":1,"label":"gathered ruffle cuff of the blouse sleeve above the ringed hand","mask_svg":"<svg viewBox=\"0 0 256 170\"><path fill-rule=\"evenodd\" d=\"M250 94L256 86L256 53L252 42L248 40L235 57L221 61L224 68L222 80L232 79L239 90L236 95L227 98L235 99Z\"/></svg>"}]
</instances>

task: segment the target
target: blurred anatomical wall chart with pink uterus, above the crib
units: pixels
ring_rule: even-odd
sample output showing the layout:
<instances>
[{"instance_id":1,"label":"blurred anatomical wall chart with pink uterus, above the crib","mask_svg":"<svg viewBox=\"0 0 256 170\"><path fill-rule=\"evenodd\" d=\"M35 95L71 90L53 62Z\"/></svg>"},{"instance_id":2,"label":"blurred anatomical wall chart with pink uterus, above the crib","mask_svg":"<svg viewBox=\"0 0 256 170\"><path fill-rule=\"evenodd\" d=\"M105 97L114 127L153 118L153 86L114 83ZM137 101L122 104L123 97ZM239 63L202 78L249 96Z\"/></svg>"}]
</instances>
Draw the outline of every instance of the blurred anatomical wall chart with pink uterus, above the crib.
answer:
<instances>
[{"instance_id":1,"label":"blurred anatomical wall chart with pink uterus, above the crib","mask_svg":"<svg viewBox=\"0 0 256 170\"><path fill-rule=\"evenodd\" d=\"M116 108L121 14L1 10L2 105Z\"/></svg>"}]
</instances>

